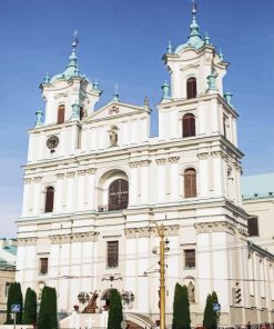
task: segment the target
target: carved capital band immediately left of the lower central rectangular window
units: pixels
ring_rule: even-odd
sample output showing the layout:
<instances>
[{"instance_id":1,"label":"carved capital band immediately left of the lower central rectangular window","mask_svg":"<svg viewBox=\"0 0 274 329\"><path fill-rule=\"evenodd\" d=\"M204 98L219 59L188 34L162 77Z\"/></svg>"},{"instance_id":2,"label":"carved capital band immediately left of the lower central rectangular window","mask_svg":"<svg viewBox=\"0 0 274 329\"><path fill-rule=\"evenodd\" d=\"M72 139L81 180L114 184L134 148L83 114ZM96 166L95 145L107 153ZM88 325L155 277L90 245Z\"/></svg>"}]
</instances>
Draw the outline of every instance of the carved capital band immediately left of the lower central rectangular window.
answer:
<instances>
[{"instance_id":1,"label":"carved capital band immediately left of the lower central rectangular window","mask_svg":"<svg viewBox=\"0 0 274 329\"><path fill-rule=\"evenodd\" d=\"M68 235L53 235L50 236L52 245L64 245L73 242L97 242L99 232L78 232Z\"/></svg>"}]
</instances>

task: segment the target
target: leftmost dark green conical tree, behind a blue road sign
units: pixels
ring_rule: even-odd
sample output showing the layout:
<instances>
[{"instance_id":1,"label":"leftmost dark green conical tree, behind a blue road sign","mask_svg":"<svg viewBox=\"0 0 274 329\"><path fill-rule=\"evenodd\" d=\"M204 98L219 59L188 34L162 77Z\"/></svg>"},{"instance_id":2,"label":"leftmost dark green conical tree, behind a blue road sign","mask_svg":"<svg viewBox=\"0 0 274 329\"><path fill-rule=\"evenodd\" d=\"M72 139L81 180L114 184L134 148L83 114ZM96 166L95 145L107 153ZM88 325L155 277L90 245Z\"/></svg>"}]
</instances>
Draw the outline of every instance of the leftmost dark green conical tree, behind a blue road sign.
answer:
<instances>
[{"instance_id":1,"label":"leftmost dark green conical tree, behind a blue road sign","mask_svg":"<svg viewBox=\"0 0 274 329\"><path fill-rule=\"evenodd\" d=\"M19 282L13 282L10 285L8 301L7 301L7 320L6 325L13 323L11 318L11 306L13 303L20 305L20 312L17 313L17 325L22 323L22 309L23 309L23 296L21 291L21 285Z\"/></svg>"}]
</instances>

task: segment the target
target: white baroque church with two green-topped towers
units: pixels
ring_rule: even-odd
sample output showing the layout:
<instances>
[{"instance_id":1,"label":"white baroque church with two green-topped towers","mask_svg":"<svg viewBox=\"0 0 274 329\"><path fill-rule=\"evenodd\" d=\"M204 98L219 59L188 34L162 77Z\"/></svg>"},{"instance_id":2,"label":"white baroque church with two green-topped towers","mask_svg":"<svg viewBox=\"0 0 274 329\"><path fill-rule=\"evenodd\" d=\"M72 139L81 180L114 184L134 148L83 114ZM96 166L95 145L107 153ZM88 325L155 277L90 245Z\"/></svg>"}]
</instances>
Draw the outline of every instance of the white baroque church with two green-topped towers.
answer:
<instances>
[{"instance_id":1,"label":"white baroque church with two green-topped towers","mask_svg":"<svg viewBox=\"0 0 274 329\"><path fill-rule=\"evenodd\" d=\"M239 114L223 88L229 63L201 37L195 9L190 29L163 57L171 80L158 137L148 100L115 94L94 110L102 91L80 72L75 44L65 71L40 86L44 120L38 111L29 131L17 280L24 291L55 287L60 313L83 310L81 298L94 291L99 311L108 309L116 288L125 313L160 319L163 223L168 325L176 282L189 288L192 326L202 325L213 290L222 326L274 321L274 256L247 241Z\"/></svg>"}]
</instances>

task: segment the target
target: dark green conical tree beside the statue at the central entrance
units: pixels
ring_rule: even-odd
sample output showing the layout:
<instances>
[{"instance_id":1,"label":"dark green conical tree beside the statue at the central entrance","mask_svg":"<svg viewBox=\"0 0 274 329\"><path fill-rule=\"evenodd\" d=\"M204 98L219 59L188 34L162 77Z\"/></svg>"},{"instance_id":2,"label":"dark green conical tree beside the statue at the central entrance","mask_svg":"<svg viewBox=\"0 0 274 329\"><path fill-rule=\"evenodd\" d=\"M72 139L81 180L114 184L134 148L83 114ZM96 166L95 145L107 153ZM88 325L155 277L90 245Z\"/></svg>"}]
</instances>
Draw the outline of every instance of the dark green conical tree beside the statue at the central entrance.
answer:
<instances>
[{"instance_id":1,"label":"dark green conical tree beside the statue at the central entrance","mask_svg":"<svg viewBox=\"0 0 274 329\"><path fill-rule=\"evenodd\" d=\"M110 310L108 329L121 329L121 322L123 321L123 308L121 296L116 289L112 289L110 292Z\"/></svg>"}]
</instances>

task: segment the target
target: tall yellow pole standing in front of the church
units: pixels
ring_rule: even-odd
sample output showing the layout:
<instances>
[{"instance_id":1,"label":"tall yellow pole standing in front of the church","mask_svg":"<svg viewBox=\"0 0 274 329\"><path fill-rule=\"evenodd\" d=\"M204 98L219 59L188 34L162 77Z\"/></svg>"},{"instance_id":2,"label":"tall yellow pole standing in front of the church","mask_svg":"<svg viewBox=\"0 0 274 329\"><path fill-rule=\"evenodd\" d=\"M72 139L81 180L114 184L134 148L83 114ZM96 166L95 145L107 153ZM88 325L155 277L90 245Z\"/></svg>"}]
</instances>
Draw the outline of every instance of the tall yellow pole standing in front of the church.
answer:
<instances>
[{"instance_id":1,"label":"tall yellow pole standing in front of the church","mask_svg":"<svg viewBox=\"0 0 274 329\"><path fill-rule=\"evenodd\" d=\"M165 241L164 241L164 226L159 227L156 221L153 221L158 229L160 237L160 329L165 329L165 269L164 269L164 256L165 256Z\"/></svg>"}]
</instances>

